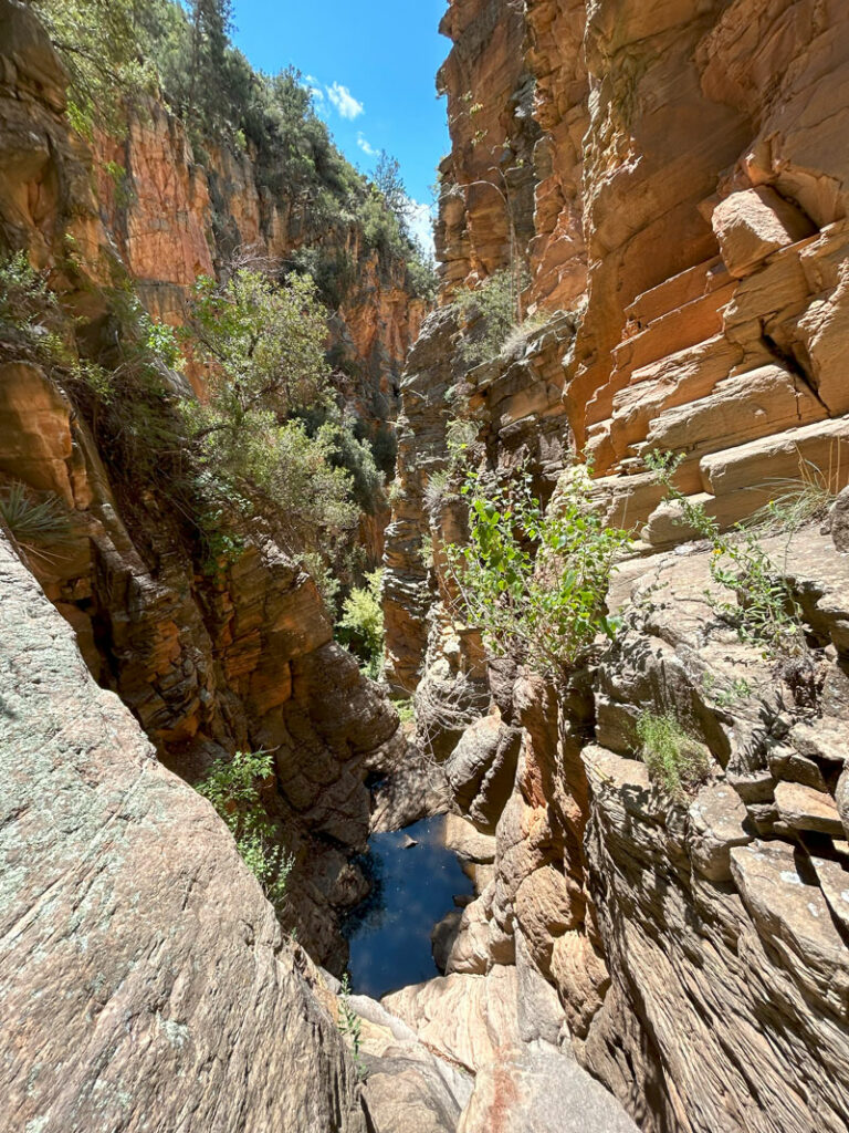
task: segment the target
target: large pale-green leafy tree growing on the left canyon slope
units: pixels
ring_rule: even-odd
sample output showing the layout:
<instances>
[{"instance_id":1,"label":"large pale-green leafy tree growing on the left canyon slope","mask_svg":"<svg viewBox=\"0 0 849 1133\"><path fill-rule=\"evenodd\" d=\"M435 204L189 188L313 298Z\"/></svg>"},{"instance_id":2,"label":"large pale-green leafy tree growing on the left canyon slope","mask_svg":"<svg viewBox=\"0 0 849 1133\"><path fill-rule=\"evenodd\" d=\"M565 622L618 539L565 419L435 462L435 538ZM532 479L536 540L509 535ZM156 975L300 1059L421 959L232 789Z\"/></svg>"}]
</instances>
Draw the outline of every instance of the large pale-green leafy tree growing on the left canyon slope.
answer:
<instances>
[{"instance_id":1,"label":"large pale-green leafy tree growing on the left canyon slope","mask_svg":"<svg viewBox=\"0 0 849 1133\"><path fill-rule=\"evenodd\" d=\"M214 486L207 494L242 511L259 506L291 551L332 561L359 521L343 462L357 442L328 384L315 286L295 274L277 286L245 269L223 284L200 279L188 335L208 367L208 399L182 403ZM311 429L298 416L308 411L320 421Z\"/></svg>"}]
</instances>

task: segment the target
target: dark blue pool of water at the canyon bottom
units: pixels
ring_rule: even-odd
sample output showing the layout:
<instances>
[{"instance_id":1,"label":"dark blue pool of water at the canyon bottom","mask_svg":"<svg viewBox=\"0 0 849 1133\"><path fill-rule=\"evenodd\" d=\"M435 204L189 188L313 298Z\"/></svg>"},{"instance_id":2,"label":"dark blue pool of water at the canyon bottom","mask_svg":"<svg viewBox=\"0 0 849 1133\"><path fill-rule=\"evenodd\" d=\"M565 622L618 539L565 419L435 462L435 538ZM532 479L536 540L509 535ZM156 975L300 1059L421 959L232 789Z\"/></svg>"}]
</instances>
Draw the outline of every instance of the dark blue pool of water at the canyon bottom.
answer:
<instances>
[{"instance_id":1,"label":"dark blue pool of water at the canyon bottom","mask_svg":"<svg viewBox=\"0 0 849 1133\"><path fill-rule=\"evenodd\" d=\"M372 998L438 976L430 932L472 883L443 845L444 818L374 834L366 867L375 886L349 922L351 987ZM419 843L404 849L406 836Z\"/></svg>"}]
</instances>

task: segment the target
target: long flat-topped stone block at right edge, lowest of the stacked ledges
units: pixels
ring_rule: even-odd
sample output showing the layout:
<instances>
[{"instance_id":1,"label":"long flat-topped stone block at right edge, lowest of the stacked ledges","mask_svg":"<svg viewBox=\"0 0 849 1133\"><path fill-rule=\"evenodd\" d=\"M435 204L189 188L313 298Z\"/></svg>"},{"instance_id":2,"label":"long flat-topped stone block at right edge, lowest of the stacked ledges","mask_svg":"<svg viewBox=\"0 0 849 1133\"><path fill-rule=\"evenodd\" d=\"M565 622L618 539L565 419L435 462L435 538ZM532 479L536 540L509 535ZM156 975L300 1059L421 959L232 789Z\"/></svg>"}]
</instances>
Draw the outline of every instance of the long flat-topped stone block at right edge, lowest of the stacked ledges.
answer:
<instances>
[{"instance_id":1,"label":"long flat-topped stone block at right edge, lowest of the stacked ledges","mask_svg":"<svg viewBox=\"0 0 849 1133\"><path fill-rule=\"evenodd\" d=\"M849 417L788 429L703 457L702 484L712 495L766 480L799 479L818 469L833 491L849 483Z\"/></svg>"}]
</instances>

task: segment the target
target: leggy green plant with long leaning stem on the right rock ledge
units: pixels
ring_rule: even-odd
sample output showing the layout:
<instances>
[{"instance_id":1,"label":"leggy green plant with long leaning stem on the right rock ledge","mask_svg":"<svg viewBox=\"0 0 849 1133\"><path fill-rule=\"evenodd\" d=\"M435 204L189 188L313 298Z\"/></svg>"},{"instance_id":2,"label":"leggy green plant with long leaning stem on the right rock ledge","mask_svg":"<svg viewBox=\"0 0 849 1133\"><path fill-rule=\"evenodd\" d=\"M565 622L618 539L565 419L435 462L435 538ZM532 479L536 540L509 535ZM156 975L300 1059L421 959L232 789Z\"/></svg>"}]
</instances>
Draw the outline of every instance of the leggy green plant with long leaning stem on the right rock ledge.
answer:
<instances>
[{"instance_id":1,"label":"leggy green plant with long leaning stem on the right rock ledge","mask_svg":"<svg viewBox=\"0 0 849 1133\"><path fill-rule=\"evenodd\" d=\"M693 503L675 486L672 477L683 459L681 454L650 452L645 463L680 508L681 522L711 544L711 578L736 599L724 602L709 594L712 607L737 629L741 641L760 646L765 656L800 651L805 645L800 612L787 580L754 531L737 525L730 535L721 535L704 505Z\"/></svg>"}]
</instances>

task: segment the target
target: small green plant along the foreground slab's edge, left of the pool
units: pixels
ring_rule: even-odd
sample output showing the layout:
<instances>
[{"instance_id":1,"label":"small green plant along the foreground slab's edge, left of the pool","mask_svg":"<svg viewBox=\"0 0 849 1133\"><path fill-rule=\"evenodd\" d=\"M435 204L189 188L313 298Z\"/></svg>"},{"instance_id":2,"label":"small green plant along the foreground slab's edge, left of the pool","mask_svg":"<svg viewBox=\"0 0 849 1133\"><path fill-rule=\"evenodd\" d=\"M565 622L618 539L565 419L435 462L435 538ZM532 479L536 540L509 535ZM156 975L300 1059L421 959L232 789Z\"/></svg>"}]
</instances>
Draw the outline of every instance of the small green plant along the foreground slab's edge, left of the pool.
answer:
<instances>
[{"instance_id":1,"label":"small green plant along the foreground slab's edge, left of the pool","mask_svg":"<svg viewBox=\"0 0 849 1133\"><path fill-rule=\"evenodd\" d=\"M230 760L216 759L196 790L223 819L245 864L280 913L294 859L276 840L263 806L261 787L273 772L269 752L237 751Z\"/></svg>"}]
</instances>

